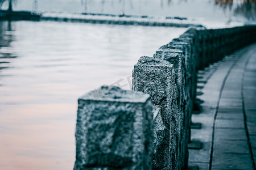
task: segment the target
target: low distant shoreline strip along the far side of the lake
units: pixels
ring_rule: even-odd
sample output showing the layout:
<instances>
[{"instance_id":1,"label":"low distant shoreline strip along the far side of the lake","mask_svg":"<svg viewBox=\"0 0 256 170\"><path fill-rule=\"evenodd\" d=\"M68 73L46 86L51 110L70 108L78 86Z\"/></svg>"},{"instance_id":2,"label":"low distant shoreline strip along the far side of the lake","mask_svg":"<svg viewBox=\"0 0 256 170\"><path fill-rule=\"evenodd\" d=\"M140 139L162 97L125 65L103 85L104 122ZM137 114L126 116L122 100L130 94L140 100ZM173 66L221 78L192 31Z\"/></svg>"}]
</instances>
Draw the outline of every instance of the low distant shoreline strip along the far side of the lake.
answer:
<instances>
[{"instance_id":1,"label":"low distant shoreline strip along the far side of the lake","mask_svg":"<svg viewBox=\"0 0 256 170\"><path fill-rule=\"evenodd\" d=\"M0 20L51 20L57 22L76 22L76 23L93 23L93 24L115 24L115 25L143 25L153 27L203 27L200 24L187 22L187 18L167 16L163 19L152 18L149 16L135 15L112 15L112 14L59 14L44 15L41 12L31 11L0 11ZM186 21L186 22L184 22Z\"/></svg>"}]
</instances>

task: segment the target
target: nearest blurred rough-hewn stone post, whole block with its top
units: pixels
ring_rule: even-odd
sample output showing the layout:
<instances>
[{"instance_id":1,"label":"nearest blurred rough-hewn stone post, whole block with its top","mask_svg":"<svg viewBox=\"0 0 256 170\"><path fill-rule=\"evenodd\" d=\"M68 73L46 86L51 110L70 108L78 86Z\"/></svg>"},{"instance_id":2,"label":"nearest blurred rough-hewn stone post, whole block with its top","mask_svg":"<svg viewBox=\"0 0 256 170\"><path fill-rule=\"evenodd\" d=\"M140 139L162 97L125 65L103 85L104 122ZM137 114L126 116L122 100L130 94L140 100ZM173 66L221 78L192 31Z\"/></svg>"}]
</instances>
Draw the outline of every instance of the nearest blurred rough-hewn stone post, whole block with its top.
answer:
<instances>
[{"instance_id":1,"label":"nearest blurred rough-hewn stone post, whole block with its top","mask_svg":"<svg viewBox=\"0 0 256 170\"><path fill-rule=\"evenodd\" d=\"M151 169L149 95L102 86L80 97L74 169Z\"/></svg>"}]
</instances>

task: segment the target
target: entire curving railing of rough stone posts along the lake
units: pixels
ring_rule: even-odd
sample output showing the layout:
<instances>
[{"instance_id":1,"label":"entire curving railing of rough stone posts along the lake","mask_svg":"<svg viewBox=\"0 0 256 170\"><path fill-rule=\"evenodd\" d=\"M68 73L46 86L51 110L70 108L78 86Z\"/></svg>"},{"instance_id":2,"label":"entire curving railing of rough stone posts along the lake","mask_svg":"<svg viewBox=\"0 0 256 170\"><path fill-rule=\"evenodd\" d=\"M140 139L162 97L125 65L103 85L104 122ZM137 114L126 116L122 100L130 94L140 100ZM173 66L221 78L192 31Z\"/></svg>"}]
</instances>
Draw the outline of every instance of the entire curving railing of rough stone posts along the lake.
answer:
<instances>
[{"instance_id":1,"label":"entire curving railing of rough stone posts along the lake","mask_svg":"<svg viewBox=\"0 0 256 170\"><path fill-rule=\"evenodd\" d=\"M191 28L138 60L133 91L82 96L74 169L186 169L197 70L253 42L256 26Z\"/></svg>"}]
</instances>

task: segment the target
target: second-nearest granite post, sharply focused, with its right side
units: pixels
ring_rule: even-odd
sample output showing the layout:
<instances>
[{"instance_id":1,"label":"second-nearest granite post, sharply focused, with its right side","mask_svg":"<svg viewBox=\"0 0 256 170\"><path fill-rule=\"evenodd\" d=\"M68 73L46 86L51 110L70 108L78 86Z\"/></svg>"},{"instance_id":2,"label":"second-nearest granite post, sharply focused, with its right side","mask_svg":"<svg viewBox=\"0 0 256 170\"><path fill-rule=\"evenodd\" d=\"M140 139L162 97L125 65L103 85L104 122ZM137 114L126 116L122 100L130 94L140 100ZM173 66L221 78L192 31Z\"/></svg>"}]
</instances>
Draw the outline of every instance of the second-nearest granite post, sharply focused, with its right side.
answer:
<instances>
[{"instance_id":1,"label":"second-nearest granite post, sharply focused, with its right side","mask_svg":"<svg viewBox=\"0 0 256 170\"><path fill-rule=\"evenodd\" d=\"M174 68L163 59L143 56L134 66L133 90L150 95L150 100L161 108L154 119L153 169L176 169L177 132L179 113L176 106Z\"/></svg>"}]
</instances>

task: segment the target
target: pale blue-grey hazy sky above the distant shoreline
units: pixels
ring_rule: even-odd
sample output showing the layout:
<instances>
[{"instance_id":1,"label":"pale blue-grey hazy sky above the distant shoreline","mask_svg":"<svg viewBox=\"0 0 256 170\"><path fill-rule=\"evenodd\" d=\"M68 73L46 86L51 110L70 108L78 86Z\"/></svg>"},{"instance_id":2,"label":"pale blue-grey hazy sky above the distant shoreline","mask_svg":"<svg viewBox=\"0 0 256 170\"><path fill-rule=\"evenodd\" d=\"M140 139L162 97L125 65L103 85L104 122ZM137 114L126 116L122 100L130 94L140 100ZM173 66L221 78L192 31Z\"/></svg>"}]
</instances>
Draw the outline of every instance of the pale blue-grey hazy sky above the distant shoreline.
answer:
<instances>
[{"instance_id":1,"label":"pale blue-grey hazy sky above the distant shoreline","mask_svg":"<svg viewBox=\"0 0 256 170\"><path fill-rule=\"evenodd\" d=\"M106 14L133 14L182 16L187 18L204 18L209 20L228 20L229 11L224 12L214 6L213 0L37 0L37 11L55 12L92 12ZM34 0L17 0L14 10L34 10ZM85 7L86 4L86 7ZM2 8L7 8L5 4ZM240 19L234 18L233 19Z\"/></svg>"}]
</instances>

